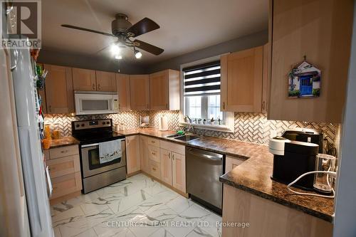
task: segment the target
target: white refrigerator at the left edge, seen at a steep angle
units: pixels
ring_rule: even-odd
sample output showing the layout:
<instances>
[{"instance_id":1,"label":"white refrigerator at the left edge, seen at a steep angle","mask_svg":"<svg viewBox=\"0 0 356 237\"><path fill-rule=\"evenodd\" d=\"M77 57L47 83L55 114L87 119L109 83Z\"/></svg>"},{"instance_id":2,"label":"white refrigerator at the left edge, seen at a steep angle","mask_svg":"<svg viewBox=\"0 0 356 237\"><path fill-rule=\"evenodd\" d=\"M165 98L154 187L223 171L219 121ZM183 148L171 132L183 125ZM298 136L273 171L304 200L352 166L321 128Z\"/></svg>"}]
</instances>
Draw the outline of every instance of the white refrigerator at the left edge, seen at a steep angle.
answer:
<instances>
[{"instance_id":1,"label":"white refrigerator at the left edge, seen at a steep angle","mask_svg":"<svg viewBox=\"0 0 356 237\"><path fill-rule=\"evenodd\" d=\"M4 85L1 89L4 92L1 95L1 118L6 120L8 126L4 129L5 134L0 135L1 149L6 149L4 144L8 144L7 147L14 151L7 151L8 161L1 157L1 165L4 166L0 169L0 177L9 182L0 187L5 191L1 204L6 205L1 214L8 212L12 216L2 217L7 220L0 226L4 231L0 233L12 235L17 231L21 236L51 237L53 228L40 137L43 121L38 115L36 72L29 50L1 50L1 70L8 72L7 78L1 78ZM19 154L16 154L16 149ZM17 177L14 175L16 171L19 173ZM23 230L11 229L16 226Z\"/></svg>"}]
</instances>

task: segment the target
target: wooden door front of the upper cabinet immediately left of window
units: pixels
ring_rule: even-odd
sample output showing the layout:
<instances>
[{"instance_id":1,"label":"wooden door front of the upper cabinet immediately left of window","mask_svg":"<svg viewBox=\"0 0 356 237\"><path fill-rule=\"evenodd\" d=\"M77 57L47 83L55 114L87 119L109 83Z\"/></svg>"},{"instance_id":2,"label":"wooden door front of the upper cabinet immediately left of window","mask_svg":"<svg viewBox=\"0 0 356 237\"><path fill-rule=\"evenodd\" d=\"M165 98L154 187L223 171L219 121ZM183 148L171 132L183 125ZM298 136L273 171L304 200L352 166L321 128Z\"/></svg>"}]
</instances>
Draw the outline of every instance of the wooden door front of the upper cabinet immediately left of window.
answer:
<instances>
[{"instance_id":1,"label":"wooden door front of the upper cabinet immediately left of window","mask_svg":"<svg viewBox=\"0 0 356 237\"><path fill-rule=\"evenodd\" d=\"M151 110L169 110L168 70L150 74Z\"/></svg>"}]
</instances>

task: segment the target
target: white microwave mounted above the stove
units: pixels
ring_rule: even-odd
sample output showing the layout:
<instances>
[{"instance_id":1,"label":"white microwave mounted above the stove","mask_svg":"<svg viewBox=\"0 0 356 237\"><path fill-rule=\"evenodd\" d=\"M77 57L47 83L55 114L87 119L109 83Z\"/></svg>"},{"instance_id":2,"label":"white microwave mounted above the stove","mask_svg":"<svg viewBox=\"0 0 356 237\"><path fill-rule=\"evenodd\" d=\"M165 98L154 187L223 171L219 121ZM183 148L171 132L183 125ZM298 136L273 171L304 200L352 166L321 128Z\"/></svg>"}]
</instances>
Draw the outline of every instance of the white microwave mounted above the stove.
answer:
<instances>
[{"instance_id":1,"label":"white microwave mounted above the stove","mask_svg":"<svg viewBox=\"0 0 356 237\"><path fill-rule=\"evenodd\" d=\"M75 90L75 114L112 114L119 110L116 92Z\"/></svg>"}]
</instances>

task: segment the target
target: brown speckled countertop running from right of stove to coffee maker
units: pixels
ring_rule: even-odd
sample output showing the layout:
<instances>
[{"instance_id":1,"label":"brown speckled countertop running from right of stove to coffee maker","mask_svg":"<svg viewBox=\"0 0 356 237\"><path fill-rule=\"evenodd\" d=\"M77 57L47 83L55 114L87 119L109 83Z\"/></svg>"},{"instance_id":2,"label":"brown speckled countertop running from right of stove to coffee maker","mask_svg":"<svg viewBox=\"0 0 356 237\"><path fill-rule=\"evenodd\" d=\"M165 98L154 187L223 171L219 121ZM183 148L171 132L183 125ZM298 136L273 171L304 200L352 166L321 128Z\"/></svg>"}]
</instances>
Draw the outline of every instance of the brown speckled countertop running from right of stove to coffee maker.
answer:
<instances>
[{"instance_id":1,"label":"brown speckled countertop running from right of stove to coffee maker","mask_svg":"<svg viewBox=\"0 0 356 237\"><path fill-rule=\"evenodd\" d=\"M302 196L292 194L286 184L271 179L273 171L273 155L268 152L268 146L251 142L241 142L221 137L200 137L189 142L165 136L174 131L161 132L154 128L120 131L123 135L148 135L170 142L185 144L188 147L206 149L211 152L226 154L230 157L246 159L245 162L220 177L224 184L248 191L278 204L298 209L325 221L333 222L334 199L318 196ZM299 190L300 191L300 190Z\"/></svg>"}]
</instances>

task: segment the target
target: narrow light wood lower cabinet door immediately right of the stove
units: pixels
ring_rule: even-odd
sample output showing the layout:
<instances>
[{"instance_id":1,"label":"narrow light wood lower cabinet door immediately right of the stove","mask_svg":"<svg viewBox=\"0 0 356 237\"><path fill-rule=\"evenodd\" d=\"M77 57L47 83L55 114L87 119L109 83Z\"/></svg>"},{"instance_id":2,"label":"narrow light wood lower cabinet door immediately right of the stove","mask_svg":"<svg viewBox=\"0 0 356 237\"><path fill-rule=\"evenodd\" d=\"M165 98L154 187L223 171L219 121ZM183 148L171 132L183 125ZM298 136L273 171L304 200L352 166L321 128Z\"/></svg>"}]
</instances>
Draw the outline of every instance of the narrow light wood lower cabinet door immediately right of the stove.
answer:
<instances>
[{"instance_id":1,"label":"narrow light wood lower cabinet door immediately right of the stove","mask_svg":"<svg viewBox=\"0 0 356 237\"><path fill-rule=\"evenodd\" d=\"M139 135L126 137L127 174L140 170L140 139Z\"/></svg>"}]
</instances>

